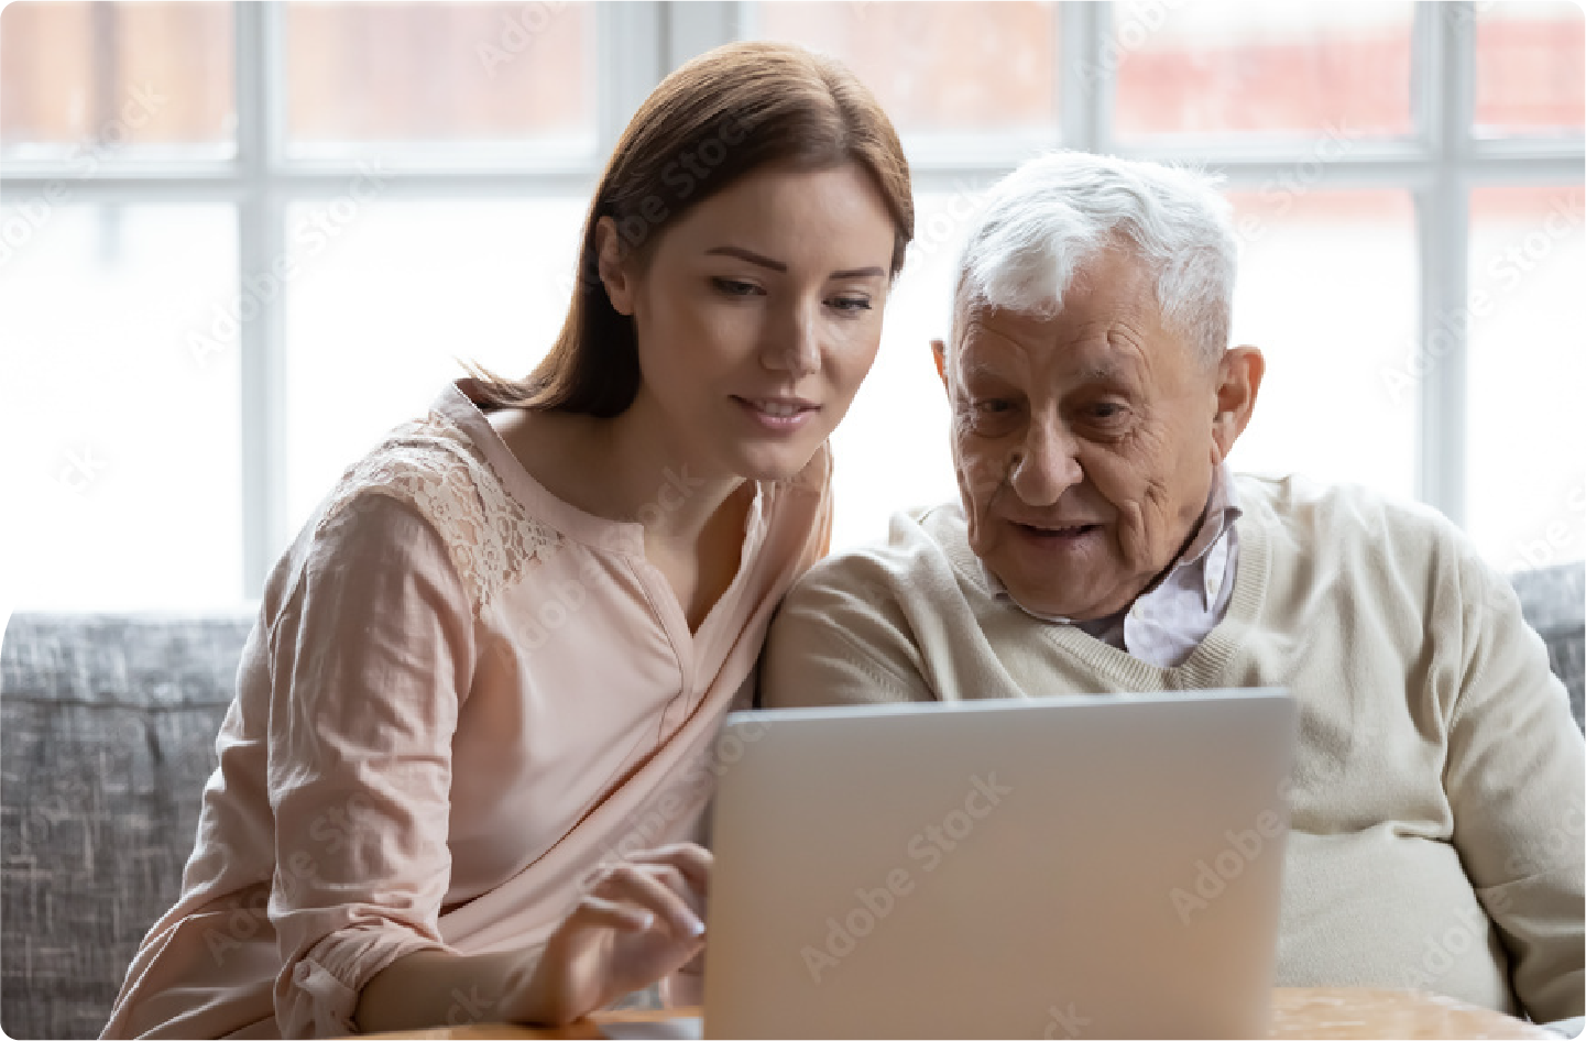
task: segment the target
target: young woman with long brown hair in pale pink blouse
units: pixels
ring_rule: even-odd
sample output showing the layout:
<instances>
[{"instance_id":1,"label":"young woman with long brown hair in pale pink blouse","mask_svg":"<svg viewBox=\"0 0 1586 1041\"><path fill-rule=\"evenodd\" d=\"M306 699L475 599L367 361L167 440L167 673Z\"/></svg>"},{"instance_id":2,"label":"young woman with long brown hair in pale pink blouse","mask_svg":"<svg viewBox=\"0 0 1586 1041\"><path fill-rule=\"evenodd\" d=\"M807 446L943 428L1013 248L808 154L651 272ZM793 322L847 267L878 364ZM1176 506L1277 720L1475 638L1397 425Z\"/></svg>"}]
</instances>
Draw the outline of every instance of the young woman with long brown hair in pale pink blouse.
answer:
<instances>
[{"instance_id":1,"label":"young woman with long brown hair in pale pink blouse","mask_svg":"<svg viewBox=\"0 0 1586 1041\"><path fill-rule=\"evenodd\" d=\"M912 225L841 65L739 44L657 89L546 362L449 386L271 573L105 1041L565 1022L687 981L709 749L825 549Z\"/></svg>"}]
</instances>

